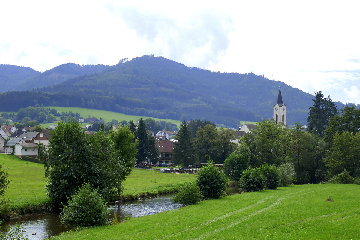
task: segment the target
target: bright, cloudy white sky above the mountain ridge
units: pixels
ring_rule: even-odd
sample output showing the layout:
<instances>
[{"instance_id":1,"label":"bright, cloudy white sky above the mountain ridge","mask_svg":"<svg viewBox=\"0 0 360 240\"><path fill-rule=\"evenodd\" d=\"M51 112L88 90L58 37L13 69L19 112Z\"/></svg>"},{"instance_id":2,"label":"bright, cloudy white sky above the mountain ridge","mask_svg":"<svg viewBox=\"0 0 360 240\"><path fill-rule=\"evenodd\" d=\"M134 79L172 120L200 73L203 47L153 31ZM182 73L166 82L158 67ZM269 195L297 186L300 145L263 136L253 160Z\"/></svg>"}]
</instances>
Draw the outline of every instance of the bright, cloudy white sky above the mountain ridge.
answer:
<instances>
[{"instance_id":1,"label":"bright, cloudy white sky above the mountain ridge","mask_svg":"<svg viewBox=\"0 0 360 240\"><path fill-rule=\"evenodd\" d=\"M46 71L154 54L360 104L359 8L354 0L1 1L0 64Z\"/></svg>"}]
</instances>

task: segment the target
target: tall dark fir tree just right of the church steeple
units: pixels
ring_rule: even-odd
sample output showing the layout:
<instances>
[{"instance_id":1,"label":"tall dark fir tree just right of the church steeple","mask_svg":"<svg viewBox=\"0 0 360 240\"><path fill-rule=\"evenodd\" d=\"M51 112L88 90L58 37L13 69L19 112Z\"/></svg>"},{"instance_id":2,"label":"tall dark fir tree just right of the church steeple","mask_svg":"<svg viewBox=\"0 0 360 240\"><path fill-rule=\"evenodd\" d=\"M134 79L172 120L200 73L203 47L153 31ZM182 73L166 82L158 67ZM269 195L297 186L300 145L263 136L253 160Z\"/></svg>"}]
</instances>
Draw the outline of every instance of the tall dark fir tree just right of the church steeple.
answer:
<instances>
[{"instance_id":1,"label":"tall dark fir tree just right of the church steeple","mask_svg":"<svg viewBox=\"0 0 360 240\"><path fill-rule=\"evenodd\" d=\"M314 105L310 107L307 117L307 131L324 136L325 127L329 125L331 117L338 114L335 103L330 96L324 98L321 91L315 93Z\"/></svg>"}]
</instances>

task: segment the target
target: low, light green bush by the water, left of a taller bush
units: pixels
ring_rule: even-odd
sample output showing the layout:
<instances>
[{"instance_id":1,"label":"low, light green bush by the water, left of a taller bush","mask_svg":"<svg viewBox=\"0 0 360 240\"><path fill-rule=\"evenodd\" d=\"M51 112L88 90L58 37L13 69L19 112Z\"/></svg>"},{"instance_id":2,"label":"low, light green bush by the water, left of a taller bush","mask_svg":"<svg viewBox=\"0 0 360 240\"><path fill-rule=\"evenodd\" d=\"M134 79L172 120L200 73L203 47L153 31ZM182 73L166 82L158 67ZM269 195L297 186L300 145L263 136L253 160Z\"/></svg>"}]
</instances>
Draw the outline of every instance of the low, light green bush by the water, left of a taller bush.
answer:
<instances>
[{"instance_id":1,"label":"low, light green bush by the water, left of a taller bush","mask_svg":"<svg viewBox=\"0 0 360 240\"><path fill-rule=\"evenodd\" d=\"M201 201L202 196L200 188L195 181L190 181L185 184L185 187L175 195L172 199L173 203L180 203L183 206L193 205Z\"/></svg>"}]
</instances>

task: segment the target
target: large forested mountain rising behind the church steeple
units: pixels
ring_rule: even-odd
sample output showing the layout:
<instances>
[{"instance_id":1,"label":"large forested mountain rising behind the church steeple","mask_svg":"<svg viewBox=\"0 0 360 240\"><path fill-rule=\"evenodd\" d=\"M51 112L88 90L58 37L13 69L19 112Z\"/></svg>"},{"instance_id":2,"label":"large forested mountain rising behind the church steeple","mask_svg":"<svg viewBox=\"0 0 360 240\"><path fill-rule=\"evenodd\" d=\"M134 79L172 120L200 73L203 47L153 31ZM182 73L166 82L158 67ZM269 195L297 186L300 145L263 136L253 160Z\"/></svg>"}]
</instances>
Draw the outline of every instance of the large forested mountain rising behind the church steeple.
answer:
<instances>
[{"instance_id":1,"label":"large forested mountain rising behind the church steeple","mask_svg":"<svg viewBox=\"0 0 360 240\"><path fill-rule=\"evenodd\" d=\"M254 73L210 72L151 56L42 87L37 92L0 95L0 104L12 105L12 110L17 110L22 104L37 99L45 106L97 108L180 120L207 119L236 127L239 120L272 118L279 85L288 109L287 123L306 124L313 104L311 94ZM14 101L6 100L17 95L16 106Z\"/></svg>"}]
</instances>

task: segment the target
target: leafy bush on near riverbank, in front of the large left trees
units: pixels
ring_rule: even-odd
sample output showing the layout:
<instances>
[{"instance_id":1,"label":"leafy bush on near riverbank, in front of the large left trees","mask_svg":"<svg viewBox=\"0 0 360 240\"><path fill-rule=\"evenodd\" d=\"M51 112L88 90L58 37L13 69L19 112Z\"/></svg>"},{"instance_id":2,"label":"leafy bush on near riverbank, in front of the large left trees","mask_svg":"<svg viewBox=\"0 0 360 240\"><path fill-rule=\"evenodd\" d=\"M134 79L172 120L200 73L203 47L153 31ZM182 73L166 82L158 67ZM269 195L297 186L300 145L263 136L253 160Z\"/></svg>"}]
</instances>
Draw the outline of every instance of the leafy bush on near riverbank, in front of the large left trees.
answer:
<instances>
[{"instance_id":1,"label":"leafy bush on near riverbank, in front of the large left trees","mask_svg":"<svg viewBox=\"0 0 360 240\"><path fill-rule=\"evenodd\" d=\"M98 191L89 183L83 184L62 209L60 222L70 227L107 225L110 210Z\"/></svg>"}]
</instances>

